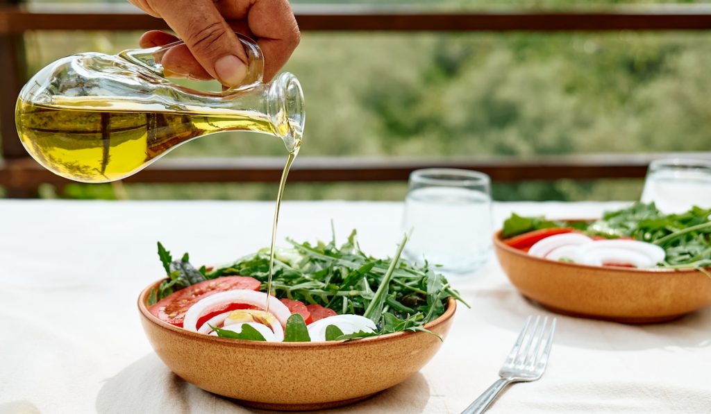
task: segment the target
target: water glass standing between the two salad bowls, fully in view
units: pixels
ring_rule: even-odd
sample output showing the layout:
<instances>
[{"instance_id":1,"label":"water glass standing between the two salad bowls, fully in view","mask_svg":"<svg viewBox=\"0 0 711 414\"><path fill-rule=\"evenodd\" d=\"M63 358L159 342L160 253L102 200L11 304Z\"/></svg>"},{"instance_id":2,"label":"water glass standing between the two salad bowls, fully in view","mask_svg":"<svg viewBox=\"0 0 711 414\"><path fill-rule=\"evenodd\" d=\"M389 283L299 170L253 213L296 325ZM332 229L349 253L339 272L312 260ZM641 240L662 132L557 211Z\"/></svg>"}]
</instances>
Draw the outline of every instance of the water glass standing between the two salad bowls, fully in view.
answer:
<instances>
[{"instance_id":1,"label":"water glass standing between the two salad bowls, fully in view","mask_svg":"<svg viewBox=\"0 0 711 414\"><path fill-rule=\"evenodd\" d=\"M410 174L402 227L412 236L405 256L471 273L491 254L491 180L470 170L427 168Z\"/></svg>"}]
</instances>

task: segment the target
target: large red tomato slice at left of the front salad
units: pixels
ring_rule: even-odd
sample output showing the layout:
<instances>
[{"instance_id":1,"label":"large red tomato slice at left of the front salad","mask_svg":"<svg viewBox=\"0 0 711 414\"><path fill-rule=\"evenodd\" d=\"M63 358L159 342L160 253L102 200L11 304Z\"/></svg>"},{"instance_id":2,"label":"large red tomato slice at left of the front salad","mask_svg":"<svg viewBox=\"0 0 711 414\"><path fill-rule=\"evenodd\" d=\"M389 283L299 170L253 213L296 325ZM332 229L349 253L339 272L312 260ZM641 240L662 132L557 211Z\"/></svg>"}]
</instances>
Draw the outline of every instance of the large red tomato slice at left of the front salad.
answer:
<instances>
[{"instance_id":1,"label":"large red tomato slice at left of the front salad","mask_svg":"<svg viewBox=\"0 0 711 414\"><path fill-rule=\"evenodd\" d=\"M177 327L183 327L186 312L198 300L226 290L260 290L260 285L259 280L245 276L223 276L222 278L205 280L178 290L167 298L159 300L148 310L159 320Z\"/></svg>"}]
</instances>

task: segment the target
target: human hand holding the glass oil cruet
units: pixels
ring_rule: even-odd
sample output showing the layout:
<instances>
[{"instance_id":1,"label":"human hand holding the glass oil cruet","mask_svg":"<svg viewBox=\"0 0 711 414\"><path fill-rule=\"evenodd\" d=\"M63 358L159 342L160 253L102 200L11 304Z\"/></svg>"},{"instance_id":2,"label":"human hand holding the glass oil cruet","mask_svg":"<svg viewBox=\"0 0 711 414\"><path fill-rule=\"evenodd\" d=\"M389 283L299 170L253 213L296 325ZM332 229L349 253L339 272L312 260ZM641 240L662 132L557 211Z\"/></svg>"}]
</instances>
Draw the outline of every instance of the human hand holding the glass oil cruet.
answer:
<instances>
[{"instance_id":1,"label":"human hand holding the glass oil cruet","mask_svg":"<svg viewBox=\"0 0 711 414\"><path fill-rule=\"evenodd\" d=\"M170 72L201 80L240 85L247 54L235 32L257 40L264 55L264 80L284 66L299 44L299 26L288 0L129 0L151 16L163 18L185 42L168 50L161 64ZM141 48L177 41L162 31L141 36Z\"/></svg>"}]
</instances>

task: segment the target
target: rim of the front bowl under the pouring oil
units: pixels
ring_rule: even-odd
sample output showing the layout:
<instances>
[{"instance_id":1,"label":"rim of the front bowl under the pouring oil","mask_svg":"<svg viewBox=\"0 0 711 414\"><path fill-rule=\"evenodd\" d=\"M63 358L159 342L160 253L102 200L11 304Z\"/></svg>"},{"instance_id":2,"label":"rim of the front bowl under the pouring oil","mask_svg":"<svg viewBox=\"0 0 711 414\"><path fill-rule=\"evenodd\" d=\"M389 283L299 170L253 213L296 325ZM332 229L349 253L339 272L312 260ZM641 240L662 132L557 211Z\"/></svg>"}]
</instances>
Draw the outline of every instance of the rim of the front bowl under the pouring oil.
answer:
<instances>
[{"instance_id":1,"label":"rim of the front bowl under the pouring oil","mask_svg":"<svg viewBox=\"0 0 711 414\"><path fill-rule=\"evenodd\" d=\"M186 335L186 337L191 338L191 339L196 339L198 341L210 342L213 344L223 344L223 345L228 345L228 346L233 346L233 347L252 347L252 348L267 348L267 349L292 349L292 348L294 348L294 349L304 349L304 348L322 349L322 348L328 348L328 347L367 346L369 344L375 344L375 343L380 343L380 342L384 342L384 341L392 341L397 338L405 337L406 335L417 335L417 334L427 335L428 334L427 332L394 332L392 334L383 334L383 335L378 335L377 337L360 338L358 340L353 340L353 341L347 341L346 339L342 339L340 341L328 341L328 342L262 342L262 341L240 341L240 340L235 340L235 339L230 339L230 338L212 337L209 335L200 334L198 332L188 331L187 329L183 329L181 327L176 327L175 325L170 325L169 323L159 320L156 316L154 316L153 314L151 314L151 312L149 312L148 307L146 306L146 300L148 298L148 295L151 292L151 289L157 288L159 283L161 283L163 280L165 280L165 278L156 280L155 282L146 286L146 288L144 288L144 290L141 291L141 293L138 296L139 313L141 314L142 317L145 318L146 321L152 323L153 325L156 325L157 327L159 327L161 329L168 329L169 331L176 332L177 334ZM429 323L427 323L426 325L424 325L424 328L432 330L435 327L438 327L439 325L444 324L444 322L447 322L448 320L451 319L451 317L454 315L454 312L456 312L456 299L454 299L454 297L450 296L447 299L447 306L444 309L444 313L442 315L439 315L439 317L437 317L437 319L432 320ZM444 340L444 338L443 338L443 340Z\"/></svg>"}]
</instances>

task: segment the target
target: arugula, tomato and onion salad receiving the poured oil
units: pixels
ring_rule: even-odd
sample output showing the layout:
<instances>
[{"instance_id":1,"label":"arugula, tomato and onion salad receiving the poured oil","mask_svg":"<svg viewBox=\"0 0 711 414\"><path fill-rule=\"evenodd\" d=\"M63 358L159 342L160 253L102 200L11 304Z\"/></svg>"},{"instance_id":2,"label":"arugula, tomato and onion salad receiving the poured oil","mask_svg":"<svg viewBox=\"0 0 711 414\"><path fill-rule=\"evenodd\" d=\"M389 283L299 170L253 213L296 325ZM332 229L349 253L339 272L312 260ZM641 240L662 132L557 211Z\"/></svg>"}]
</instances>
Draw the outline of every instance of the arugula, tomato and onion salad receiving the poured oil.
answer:
<instances>
[{"instance_id":1,"label":"arugula, tomato and onion salad receiving the poured oil","mask_svg":"<svg viewBox=\"0 0 711 414\"><path fill-rule=\"evenodd\" d=\"M167 277L151 290L149 311L193 332L253 341L429 332L424 325L444 313L448 298L464 300L428 263L400 258L406 242L407 236L393 258L373 258L360 249L355 230L341 246L335 236L327 244L289 240L289 249L275 251L272 295L269 249L225 266L196 268L188 254L173 260L159 242Z\"/></svg>"}]
</instances>

